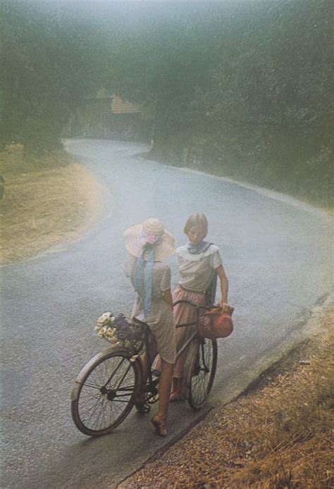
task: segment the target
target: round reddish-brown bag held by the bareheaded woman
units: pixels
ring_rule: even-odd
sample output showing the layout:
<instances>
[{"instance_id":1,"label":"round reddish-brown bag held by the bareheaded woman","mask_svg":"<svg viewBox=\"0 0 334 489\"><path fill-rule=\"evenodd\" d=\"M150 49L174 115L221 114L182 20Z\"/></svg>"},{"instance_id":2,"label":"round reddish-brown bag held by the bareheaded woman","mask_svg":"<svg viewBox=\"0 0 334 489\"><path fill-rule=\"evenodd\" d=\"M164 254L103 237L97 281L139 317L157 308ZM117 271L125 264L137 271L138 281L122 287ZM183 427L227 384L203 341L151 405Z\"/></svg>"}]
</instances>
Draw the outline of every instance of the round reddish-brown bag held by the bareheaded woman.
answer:
<instances>
[{"instance_id":1,"label":"round reddish-brown bag held by the bareheaded woman","mask_svg":"<svg viewBox=\"0 0 334 489\"><path fill-rule=\"evenodd\" d=\"M234 308L225 306L224 311L221 307L214 307L199 318L197 331L202 338L216 340L217 338L226 338L233 331L232 314Z\"/></svg>"}]
</instances>

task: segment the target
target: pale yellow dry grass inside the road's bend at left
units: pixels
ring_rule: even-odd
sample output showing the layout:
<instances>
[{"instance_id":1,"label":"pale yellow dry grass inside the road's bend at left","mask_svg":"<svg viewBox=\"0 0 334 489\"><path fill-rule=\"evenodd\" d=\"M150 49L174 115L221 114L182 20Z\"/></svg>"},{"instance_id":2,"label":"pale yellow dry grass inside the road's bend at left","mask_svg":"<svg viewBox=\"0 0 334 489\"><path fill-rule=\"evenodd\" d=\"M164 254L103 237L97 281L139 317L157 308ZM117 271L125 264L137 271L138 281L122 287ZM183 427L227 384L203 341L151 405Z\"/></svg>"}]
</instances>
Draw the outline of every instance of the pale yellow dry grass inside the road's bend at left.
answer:
<instances>
[{"instance_id":1,"label":"pale yellow dry grass inside the road's bend at left","mask_svg":"<svg viewBox=\"0 0 334 489\"><path fill-rule=\"evenodd\" d=\"M21 148L0 154L6 186L0 203L0 263L27 259L82 236L102 211L104 190L78 163L22 162Z\"/></svg>"}]
</instances>

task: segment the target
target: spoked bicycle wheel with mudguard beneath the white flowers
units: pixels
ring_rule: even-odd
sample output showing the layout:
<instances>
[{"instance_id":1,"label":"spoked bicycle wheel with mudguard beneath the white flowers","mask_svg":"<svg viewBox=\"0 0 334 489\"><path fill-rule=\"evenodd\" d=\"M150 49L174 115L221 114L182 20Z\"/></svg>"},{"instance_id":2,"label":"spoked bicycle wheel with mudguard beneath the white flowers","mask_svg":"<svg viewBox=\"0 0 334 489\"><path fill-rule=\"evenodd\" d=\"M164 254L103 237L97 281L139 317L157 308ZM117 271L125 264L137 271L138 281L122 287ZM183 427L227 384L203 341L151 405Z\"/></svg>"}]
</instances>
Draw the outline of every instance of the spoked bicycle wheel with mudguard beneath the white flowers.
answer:
<instances>
[{"instance_id":1,"label":"spoked bicycle wheel with mudguard beneath the white flowers","mask_svg":"<svg viewBox=\"0 0 334 489\"><path fill-rule=\"evenodd\" d=\"M106 435L130 413L140 390L139 360L130 352L109 348L80 371L71 394L75 426L89 436Z\"/></svg>"}]
</instances>

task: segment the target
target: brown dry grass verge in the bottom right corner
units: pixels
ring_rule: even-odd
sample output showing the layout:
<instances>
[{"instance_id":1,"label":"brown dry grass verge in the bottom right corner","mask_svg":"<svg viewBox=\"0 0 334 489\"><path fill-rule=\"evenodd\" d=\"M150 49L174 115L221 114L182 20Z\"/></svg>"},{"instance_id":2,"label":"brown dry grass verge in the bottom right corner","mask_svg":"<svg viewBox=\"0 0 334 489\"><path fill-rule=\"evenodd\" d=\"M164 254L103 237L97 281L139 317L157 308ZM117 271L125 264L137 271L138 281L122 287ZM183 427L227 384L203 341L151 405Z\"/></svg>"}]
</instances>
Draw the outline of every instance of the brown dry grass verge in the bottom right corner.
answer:
<instances>
[{"instance_id":1,"label":"brown dry grass verge in the bottom right corner","mask_svg":"<svg viewBox=\"0 0 334 489\"><path fill-rule=\"evenodd\" d=\"M333 323L118 488L333 488Z\"/></svg>"}]
</instances>

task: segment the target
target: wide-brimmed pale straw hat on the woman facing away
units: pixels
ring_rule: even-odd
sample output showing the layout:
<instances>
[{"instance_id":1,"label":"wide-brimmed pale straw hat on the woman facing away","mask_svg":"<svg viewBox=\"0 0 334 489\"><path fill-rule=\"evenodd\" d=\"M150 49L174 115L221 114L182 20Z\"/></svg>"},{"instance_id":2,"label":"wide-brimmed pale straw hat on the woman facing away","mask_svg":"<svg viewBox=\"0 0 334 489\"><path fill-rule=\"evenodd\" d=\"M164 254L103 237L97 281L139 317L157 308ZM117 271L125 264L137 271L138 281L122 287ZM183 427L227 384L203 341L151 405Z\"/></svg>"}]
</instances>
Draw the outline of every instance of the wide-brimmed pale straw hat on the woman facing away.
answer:
<instances>
[{"instance_id":1,"label":"wide-brimmed pale straw hat on the woman facing away","mask_svg":"<svg viewBox=\"0 0 334 489\"><path fill-rule=\"evenodd\" d=\"M175 252L175 240L159 219L149 218L142 224L132 225L124 233L125 248L133 256L140 256L143 250L143 238L160 237L161 242L154 245L155 260L163 260Z\"/></svg>"}]
</instances>

